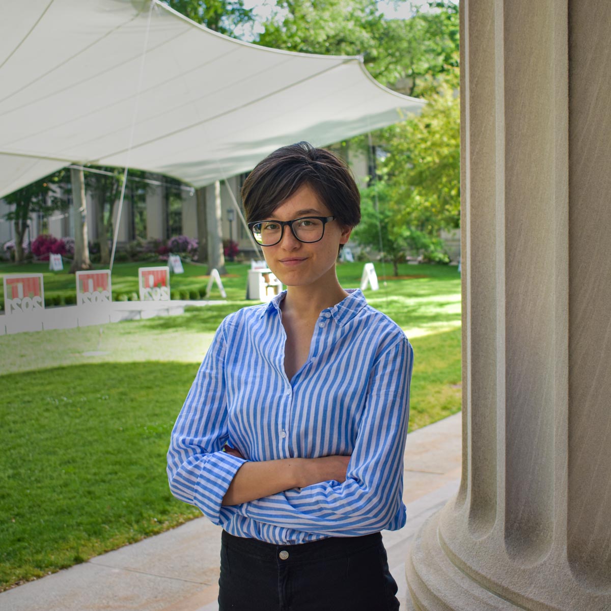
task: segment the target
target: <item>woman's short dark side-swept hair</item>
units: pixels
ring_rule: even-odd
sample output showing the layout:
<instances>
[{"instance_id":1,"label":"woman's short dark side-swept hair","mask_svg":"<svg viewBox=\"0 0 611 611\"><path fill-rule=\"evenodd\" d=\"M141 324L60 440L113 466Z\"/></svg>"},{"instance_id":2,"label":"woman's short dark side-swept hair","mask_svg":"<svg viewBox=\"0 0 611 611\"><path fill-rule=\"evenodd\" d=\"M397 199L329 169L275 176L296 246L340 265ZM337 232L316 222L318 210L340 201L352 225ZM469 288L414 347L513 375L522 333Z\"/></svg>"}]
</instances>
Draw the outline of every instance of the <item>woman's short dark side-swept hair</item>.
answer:
<instances>
[{"instance_id":1,"label":"woman's short dark side-swept hair","mask_svg":"<svg viewBox=\"0 0 611 611\"><path fill-rule=\"evenodd\" d=\"M345 227L360 221L360 193L346 163L324 148L298 142L260 161L242 186L246 220L264 221L299 188L307 185Z\"/></svg>"}]
</instances>

